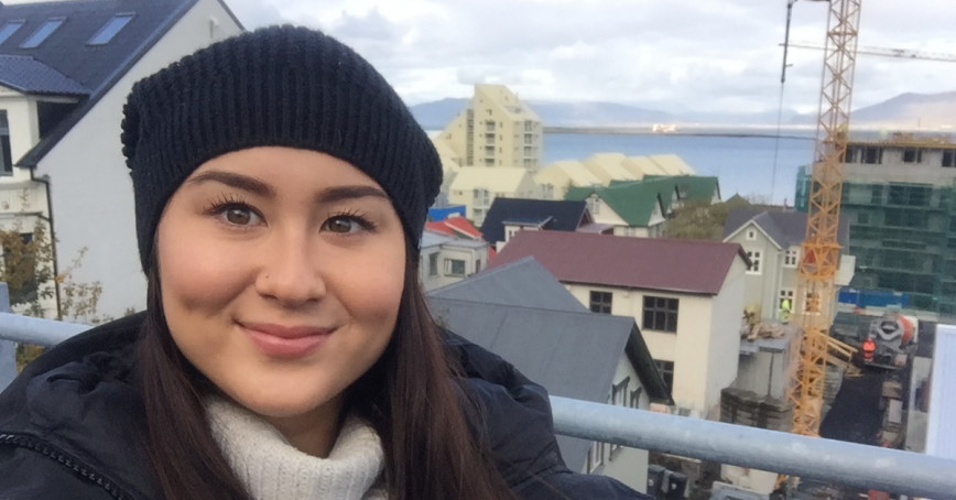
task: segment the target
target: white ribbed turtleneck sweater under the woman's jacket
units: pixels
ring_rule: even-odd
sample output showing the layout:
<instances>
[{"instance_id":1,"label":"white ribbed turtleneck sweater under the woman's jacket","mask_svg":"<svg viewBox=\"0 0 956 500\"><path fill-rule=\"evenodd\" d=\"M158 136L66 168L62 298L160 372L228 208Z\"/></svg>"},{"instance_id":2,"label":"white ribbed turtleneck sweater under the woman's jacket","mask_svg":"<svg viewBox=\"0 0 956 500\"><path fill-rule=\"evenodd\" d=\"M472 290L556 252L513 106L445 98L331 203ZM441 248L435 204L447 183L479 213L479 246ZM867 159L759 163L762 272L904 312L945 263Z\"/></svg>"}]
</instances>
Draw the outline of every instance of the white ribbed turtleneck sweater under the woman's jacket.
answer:
<instances>
[{"instance_id":1,"label":"white ribbed turtleneck sweater under the woman's jacket","mask_svg":"<svg viewBox=\"0 0 956 500\"><path fill-rule=\"evenodd\" d=\"M208 398L213 436L256 500L385 500L380 479L384 454L374 430L349 415L328 455L300 452L252 412Z\"/></svg>"}]
</instances>

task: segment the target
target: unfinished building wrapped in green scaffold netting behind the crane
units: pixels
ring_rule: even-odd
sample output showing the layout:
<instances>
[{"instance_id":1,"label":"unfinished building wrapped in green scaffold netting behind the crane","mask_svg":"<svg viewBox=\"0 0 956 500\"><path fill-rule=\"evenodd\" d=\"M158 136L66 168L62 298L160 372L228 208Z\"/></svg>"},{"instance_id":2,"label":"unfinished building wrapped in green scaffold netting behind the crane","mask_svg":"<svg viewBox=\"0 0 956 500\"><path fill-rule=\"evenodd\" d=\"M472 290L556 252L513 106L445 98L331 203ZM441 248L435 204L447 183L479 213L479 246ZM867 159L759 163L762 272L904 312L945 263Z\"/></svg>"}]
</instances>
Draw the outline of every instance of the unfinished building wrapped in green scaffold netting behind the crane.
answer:
<instances>
[{"instance_id":1,"label":"unfinished building wrapped in green scaffold netting behind the crane","mask_svg":"<svg viewBox=\"0 0 956 500\"><path fill-rule=\"evenodd\" d=\"M857 261L850 286L899 292L903 308L956 314L956 143L908 133L851 140L844 173ZM796 182L803 211L808 177L804 167Z\"/></svg>"}]
</instances>

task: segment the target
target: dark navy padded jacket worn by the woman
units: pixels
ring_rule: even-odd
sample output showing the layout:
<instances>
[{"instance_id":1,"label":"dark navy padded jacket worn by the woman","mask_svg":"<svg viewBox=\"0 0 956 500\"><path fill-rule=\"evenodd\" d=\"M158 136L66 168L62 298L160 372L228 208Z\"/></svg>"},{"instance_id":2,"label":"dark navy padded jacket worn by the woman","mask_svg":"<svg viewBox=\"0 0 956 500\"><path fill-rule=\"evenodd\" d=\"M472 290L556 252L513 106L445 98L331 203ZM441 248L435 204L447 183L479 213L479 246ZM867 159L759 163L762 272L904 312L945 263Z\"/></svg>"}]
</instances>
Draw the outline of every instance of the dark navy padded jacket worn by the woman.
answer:
<instances>
[{"instance_id":1,"label":"dark navy padded jacket worn by the woman","mask_svg":"<svg viewBox=\"0 0 956 500\"><path fill-rule=\"evenodd\" d=\"M161 498L143 445L142 400L130 383L141 323L141 314L130 316L61 344L0 394L0 500ZM520 498L648 498L568 470L544 389L474 344L447 343L487 410L481 434Z\"/></svg>"}]
</instances>

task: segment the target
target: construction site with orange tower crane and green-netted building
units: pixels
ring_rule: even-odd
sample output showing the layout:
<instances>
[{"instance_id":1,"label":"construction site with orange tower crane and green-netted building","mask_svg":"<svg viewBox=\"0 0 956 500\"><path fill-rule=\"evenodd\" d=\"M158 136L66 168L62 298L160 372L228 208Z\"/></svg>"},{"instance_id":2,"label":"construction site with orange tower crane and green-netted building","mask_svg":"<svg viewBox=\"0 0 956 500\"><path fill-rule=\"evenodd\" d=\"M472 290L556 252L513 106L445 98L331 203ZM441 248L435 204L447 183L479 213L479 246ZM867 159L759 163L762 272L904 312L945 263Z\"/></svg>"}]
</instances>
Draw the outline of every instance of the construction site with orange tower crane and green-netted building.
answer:
<instances>
[{"instance_id":1,"label":"construction site with orange tower crane and green-netted building","mask_svg":"<svg viewBox=\"0 0 956 500\"><path fill-rule=\"evenodd\" d=\"M795 3L787 1L781 93ZM926 453L936 325L956 314L956 143L946 135L857 133L850 109L858 54L954 58L858 50L866 2L827 3L826 43L816 47L824 50L816 150L794 198L806 214L799 283L780 298L784 317L759 306L745 313L738 380L721 394L720 420ZM848 244L840 239L846 225ZM840 287L846 256L855 272ZM700 498L897 498L739 467L723 466L719 477Z\"/></svg>"}]
</instances>

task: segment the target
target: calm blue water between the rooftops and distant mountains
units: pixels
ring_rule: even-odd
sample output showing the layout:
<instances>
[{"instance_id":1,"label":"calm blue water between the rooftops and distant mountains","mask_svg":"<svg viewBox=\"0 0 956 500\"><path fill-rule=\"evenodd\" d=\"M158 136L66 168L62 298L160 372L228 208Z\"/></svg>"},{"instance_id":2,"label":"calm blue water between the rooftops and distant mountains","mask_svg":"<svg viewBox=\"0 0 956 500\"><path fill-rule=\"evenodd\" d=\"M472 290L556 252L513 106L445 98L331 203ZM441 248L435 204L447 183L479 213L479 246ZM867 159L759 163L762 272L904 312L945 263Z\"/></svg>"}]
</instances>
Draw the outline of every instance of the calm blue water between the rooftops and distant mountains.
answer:
<instances>
[{"instance_id":1,"label":"calm blue water between the rooftops and distant mountains","mask_svg":"<svg viewBox=\"0 0 956 500\"><path fill-rule=\"evenodd\" d=\"M585 160L595 153L676 154L699 175L716 176L724 199L735 194L770 199L772 192L774 203L786 202L792 206L796 171L811 162L814 141L808 134L781 138L776 180L771 183L775 145L773 137L547 133L544 135L544 164Z\"/></svg>"}]
</instances>

